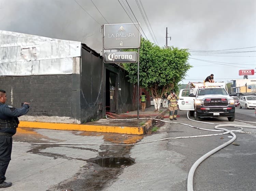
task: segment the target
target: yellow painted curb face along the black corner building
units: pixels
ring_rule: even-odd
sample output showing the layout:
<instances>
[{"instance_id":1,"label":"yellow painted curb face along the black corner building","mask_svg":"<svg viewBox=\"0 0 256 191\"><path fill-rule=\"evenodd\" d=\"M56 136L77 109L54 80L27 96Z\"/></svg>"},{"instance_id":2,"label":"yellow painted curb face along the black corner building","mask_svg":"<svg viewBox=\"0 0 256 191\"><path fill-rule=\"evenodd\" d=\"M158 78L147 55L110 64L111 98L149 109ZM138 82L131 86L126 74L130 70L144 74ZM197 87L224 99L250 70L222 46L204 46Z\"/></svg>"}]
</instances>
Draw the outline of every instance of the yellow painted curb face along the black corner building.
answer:
<instances>
[{"instance_id":1,"label":"yellow painted curb face along the black corner building","mask_svg":"<svg viewBox=\"0 0 256 191\"><path fill-rule=\"evenodd\" d=\"M86 124L68 124L68 123L46 123L46 122L30 122L20 121L19 127L69 130L69 131L94 131L103 133L122 133L143 135L143 127L125 127L125 126L100 126Z\"/></svg>"}]
</instances>

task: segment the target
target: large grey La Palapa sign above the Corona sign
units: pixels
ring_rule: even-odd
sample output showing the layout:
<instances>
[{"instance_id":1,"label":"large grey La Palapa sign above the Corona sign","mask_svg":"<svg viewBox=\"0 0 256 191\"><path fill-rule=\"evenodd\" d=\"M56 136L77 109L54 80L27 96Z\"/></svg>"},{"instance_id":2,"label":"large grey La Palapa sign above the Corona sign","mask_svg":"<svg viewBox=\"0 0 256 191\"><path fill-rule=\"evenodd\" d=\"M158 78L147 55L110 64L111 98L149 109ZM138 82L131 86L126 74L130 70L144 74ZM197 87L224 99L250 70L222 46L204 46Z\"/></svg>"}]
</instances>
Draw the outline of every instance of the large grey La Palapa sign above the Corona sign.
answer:
<instances>
[{"instance_id":1,"label":"large grey La Palapa sign above the Corona sign","mask_svg":"<svg viewBox=\"0 0 256 191\"><path fill-rule=\"evenodd\" d=\"M140 48L140 23L104 24L104 49Z\"/></svg>"}]
</instances>

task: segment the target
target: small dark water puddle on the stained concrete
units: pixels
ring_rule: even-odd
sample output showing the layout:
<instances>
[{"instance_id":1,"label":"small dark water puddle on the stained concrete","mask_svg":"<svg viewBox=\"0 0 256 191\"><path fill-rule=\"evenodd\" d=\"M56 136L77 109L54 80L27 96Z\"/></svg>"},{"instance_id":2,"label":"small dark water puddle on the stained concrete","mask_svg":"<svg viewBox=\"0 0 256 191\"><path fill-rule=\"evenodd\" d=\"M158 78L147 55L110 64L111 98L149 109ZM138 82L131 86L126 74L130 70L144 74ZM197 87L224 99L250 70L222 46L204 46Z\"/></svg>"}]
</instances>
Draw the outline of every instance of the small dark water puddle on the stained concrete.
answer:
<instances>
[{"instance_id":1,"label":"small dark water puddle on the stained concrete","mask_svg":"<svg viewBox=\"0 0 256 191\"><path fill-rule=\"evenodd\" d=\"M120 168L124 166L130 166L134 163L134 160L126 157L109 157L109 158L99 158L93 161L101 167L112 167Z\"/></svg>"}]
</instances>

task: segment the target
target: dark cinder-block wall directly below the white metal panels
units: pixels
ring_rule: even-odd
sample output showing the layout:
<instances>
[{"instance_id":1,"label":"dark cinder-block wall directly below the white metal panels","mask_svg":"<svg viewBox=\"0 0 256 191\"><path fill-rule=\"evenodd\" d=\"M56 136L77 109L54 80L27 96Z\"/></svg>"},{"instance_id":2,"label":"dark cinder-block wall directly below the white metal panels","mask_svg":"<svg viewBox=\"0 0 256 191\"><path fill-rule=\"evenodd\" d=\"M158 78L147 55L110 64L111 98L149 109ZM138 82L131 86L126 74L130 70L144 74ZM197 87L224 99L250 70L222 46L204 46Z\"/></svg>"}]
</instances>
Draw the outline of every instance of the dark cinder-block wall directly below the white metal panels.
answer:
<instances>
[{"instance_id":1,"label":"dark cinder-block wall directly below the white metal panels","mask_svg":"<svg viewBox=\"0 0 256 191\"><path fill-rule=\"evenodd\" d=\"M7 104L11 105L11 98L14 107L29 102L29 116L76 118L71 99L75 75L4 76L0 77L0 88L6 91Z\"/></svg>"}]
</instances>

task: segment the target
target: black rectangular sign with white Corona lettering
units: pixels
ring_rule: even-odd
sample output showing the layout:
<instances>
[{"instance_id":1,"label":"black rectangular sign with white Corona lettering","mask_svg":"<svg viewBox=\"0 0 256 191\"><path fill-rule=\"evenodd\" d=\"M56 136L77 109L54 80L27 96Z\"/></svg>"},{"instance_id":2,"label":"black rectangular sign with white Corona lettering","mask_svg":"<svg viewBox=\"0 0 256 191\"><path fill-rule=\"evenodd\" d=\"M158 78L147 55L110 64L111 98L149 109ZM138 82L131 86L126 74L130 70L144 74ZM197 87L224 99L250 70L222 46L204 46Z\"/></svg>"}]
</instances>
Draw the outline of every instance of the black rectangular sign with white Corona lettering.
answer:
<instances>
[{"instance_id":1,"label":"black rectangular sign with white Corona lettering","mask_svg":"<svg viewBox=\"0 0 256 191\"><path fill-rule=\"evenodd\" d=\"M104 63L136 63L137 52L105 52Z\"/></svg>"}]
</instances>

